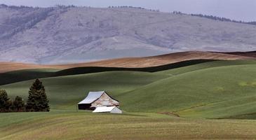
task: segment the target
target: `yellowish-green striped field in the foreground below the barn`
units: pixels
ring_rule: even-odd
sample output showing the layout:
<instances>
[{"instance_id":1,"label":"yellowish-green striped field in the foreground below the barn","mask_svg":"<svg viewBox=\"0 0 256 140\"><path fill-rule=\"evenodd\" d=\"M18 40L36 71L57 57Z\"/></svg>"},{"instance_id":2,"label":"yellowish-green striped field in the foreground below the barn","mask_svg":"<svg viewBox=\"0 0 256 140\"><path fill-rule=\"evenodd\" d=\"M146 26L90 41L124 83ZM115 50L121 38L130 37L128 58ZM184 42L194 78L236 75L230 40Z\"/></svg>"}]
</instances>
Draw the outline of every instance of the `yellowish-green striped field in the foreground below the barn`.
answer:
<instances>
[{"instance_id":1,"label":"yellowish-green striped field in the foreground below the barn","mask_svg":"<svg viewBox=\"0 0 256 140\"><path fill-rule=\"evenodd\" d=\"M0 114L4 139L255 139L255 120L55 112Z\"/></svg>"}]
</instances>

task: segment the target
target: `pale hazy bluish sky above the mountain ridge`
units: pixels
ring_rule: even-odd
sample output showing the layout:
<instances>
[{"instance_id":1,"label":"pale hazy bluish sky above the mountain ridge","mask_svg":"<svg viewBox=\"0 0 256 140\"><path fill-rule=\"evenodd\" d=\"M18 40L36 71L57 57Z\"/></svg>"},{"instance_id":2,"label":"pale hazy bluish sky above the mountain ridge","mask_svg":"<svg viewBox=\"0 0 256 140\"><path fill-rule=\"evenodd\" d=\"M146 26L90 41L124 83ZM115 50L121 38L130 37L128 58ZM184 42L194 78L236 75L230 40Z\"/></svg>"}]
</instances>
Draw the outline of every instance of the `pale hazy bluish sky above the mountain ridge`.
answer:
<instances>
[{"instance_id":1,"label":"pale hazy bluish sky above the mountain ridge","mask_svg":"<svg viewBox=\"0 0 256 140\"><path fill-rule=\"evenodd\" d=\"M163 12L178 10L183 13L202 13L234 20L256 21L256 0L0 0L0 3L41 7L56 4L93 7L141 6Z\"/></svg>"}]
</instances>

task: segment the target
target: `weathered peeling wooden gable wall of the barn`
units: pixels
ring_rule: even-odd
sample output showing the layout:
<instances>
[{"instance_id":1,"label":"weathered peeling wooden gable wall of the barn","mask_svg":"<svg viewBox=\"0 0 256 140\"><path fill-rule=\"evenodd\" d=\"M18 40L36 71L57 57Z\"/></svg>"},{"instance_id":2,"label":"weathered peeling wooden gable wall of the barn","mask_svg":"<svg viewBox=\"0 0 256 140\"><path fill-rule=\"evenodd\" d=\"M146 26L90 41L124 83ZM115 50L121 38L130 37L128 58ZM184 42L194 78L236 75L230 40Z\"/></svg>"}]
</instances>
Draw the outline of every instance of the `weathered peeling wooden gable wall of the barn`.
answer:
<instances>
[{"instance_id":1,"label":"weathered peeling wooden gable wall of the barn","mask_svg":"<svg viewBox=\"0 0 256 140\"><path fill-rule=\"evenodd\" d=\"M115 101L111 97L109 97L106 93L102 94L100 99L97 99L97 101L93 102L93 107L97 106L119 106L119 102Z\"/></svg>"}]
</instances>

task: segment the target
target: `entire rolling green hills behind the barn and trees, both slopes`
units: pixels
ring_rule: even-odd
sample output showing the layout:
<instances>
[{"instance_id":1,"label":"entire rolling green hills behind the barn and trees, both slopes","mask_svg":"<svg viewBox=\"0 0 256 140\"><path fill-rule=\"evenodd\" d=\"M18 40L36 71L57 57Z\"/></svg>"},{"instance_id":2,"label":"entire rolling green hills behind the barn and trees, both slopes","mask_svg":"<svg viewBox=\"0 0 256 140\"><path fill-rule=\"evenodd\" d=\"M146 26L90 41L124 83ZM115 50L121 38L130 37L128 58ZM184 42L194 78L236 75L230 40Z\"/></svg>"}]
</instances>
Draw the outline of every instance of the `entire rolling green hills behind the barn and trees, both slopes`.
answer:
<instances>
[{"instance_id":1,"label":"entire rolling green hills behind the barn and trees, both slopes","mask_svg":"<svg viewBox=\"0 0 256 140\"><path fill-rule=\"evenodd\" d=\"M255 71L255 61L217 61L155 73L110 71L42 80L52 109L74 110L87 92L107 90L125 111L230 118L255 113ZM32 82L0 87L26 98Z\"/></svg>"}]
</instances>

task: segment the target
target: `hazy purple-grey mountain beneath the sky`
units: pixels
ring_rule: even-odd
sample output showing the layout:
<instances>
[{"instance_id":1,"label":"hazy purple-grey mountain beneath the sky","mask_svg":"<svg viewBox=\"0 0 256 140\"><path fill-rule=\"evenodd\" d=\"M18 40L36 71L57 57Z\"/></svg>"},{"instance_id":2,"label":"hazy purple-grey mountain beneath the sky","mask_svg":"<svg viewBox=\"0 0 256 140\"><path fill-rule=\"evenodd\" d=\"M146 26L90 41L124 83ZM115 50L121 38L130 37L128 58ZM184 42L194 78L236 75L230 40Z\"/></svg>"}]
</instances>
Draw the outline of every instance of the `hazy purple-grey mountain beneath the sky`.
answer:
<instances>
[{"instance_id":1,"label":"hazy purple-grey mountain beneath the sky","mask_svg":"<svg viewBox=\"0 0 256 140\"><path fill-rule=\"evenodd\" d=\"M60 64L256 50L256 26L140 8L0 5L0 61Z\"/></svg>"}]
</instances>

